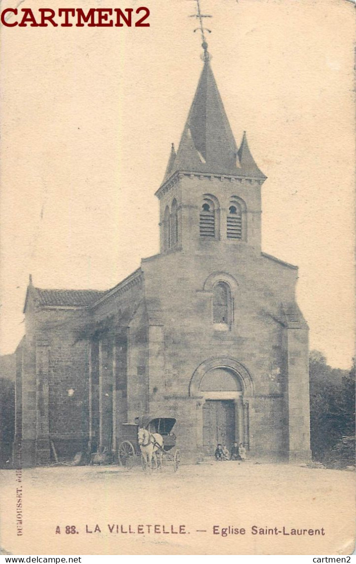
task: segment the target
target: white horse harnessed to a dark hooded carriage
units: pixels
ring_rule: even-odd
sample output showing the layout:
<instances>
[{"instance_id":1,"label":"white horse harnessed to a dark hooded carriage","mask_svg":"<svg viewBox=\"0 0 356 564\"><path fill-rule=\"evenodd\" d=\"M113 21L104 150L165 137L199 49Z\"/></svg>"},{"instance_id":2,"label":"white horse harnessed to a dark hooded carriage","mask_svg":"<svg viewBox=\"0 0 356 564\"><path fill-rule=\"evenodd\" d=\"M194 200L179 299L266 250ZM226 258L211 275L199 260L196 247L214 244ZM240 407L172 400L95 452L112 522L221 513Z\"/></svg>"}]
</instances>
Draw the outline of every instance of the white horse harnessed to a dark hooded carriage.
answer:
<instances>
[{"instance_id":1,"label":"white horse harnessed to a dark hooded carriage","mask_svg":"<svg viewBox=\"0 0 356 564\"><path fill-rule=\"evenodd\" d=\"M122 423L121 436L118 439L119 464L131 468L135 461L140 460L143 468L146 468L147 464L151 465L151 462L161 468L162 462L172 461L174 472L177 472L181 451L175 448L176 437L172 432L175 421L172 417L144 417L134 424Z\"/></svg>"}]
</instances>

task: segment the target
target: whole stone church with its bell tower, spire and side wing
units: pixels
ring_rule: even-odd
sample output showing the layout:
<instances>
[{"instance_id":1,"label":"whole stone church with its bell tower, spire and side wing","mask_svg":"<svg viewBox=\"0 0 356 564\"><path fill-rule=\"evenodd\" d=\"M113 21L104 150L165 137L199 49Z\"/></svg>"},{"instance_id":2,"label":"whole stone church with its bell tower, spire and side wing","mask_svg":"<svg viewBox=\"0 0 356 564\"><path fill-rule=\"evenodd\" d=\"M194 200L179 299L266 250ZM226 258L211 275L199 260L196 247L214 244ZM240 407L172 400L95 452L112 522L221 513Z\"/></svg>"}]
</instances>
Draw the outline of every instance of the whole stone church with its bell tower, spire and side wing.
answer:
<instances>
[{"instance_id":1,"label":"whole stone church with its bell tower, spire and side wing","mask_svg":"<svg viewBox=\"0 0 356 564\"><path fill-rule=\"evenodd\" d=\"M203 45L204 47L204 45ZM173 417L184 461L244 443L310 459L308 328L296 266L261 250L266 177L236 146L205 49L160 202L160 253L107 291L28 285L14 457L117 452L121 425Z\"/></svg>"}]
</instances>

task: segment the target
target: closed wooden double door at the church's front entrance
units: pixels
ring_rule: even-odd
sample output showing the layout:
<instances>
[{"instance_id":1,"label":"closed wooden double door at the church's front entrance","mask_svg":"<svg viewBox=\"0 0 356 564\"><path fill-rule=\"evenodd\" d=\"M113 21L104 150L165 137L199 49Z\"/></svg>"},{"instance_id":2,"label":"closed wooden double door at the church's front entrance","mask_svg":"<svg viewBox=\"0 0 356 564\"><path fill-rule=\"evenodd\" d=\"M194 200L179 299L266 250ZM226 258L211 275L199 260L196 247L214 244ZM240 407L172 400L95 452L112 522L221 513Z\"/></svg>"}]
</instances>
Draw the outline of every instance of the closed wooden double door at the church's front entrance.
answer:
<instances>
[{"instance_id":1,"label":"closed wooden double door at the church's front entrance","mask_svg":"<svg viewBox=\"0 0 356 564\"><path fill-rule=\"evenodd\" d=\"M226 444L228 450L235 440L234 400L206 400L203 405L204 454L213 455L218 443Z\"/></svg>"}]
</instances>

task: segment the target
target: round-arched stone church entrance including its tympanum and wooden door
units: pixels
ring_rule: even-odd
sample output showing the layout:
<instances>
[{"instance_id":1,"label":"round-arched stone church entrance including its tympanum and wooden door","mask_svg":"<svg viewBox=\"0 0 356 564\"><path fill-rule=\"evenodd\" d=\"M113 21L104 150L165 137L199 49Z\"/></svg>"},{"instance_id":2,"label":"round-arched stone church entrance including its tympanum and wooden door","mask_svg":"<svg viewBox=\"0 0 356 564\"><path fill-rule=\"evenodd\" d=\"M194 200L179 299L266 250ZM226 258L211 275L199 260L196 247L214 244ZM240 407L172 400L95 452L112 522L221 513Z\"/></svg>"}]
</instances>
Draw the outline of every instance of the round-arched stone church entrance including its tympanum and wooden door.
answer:
<instances>
[{"instance_id":1,"label":"round-arched stone church entrance including its tympanum and wooden door","mask_svg":"<svg viewBox=\"0 0 356 564\"><path fill-rule=\"evenodd\" d=\"M253 380L237 360L206 360L194 372L189 389L197 401L197 446L202 456L212 455L218 442L231 447L234 440L249 448L249 398Z\"/></svg>"}]
</instances>

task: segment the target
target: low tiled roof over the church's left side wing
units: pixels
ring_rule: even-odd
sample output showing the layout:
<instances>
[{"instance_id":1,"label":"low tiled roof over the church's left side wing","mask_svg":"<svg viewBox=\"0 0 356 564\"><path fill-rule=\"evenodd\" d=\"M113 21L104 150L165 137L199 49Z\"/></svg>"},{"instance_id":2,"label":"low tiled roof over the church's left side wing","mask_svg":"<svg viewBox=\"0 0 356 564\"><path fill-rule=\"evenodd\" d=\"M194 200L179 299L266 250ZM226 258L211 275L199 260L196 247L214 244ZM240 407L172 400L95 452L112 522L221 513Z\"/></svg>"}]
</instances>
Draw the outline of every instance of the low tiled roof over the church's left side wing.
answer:
<instances>
[{"instance_id":1,"label":"low tiled roof over the church's left side wing","mask_svg":"<svg viewBox=\"0 0 356 564\"><path fill-rule=\"evenodd\" d=\"M39 306L91 306L106 293L106 290L35 290Z\"/></svg>"}]
</instances>

